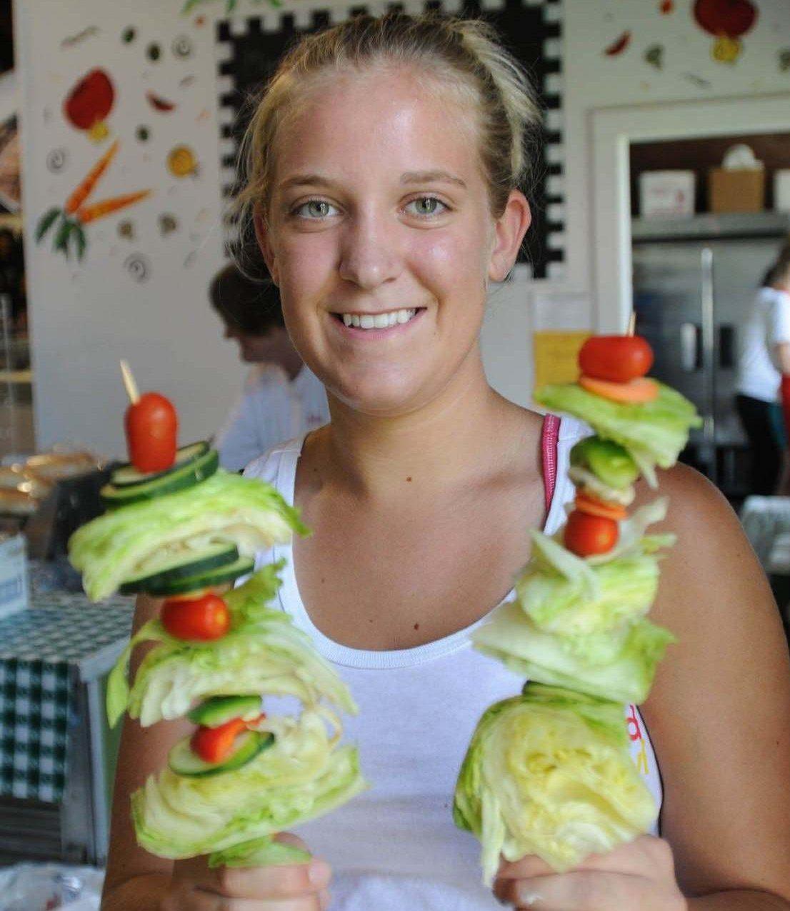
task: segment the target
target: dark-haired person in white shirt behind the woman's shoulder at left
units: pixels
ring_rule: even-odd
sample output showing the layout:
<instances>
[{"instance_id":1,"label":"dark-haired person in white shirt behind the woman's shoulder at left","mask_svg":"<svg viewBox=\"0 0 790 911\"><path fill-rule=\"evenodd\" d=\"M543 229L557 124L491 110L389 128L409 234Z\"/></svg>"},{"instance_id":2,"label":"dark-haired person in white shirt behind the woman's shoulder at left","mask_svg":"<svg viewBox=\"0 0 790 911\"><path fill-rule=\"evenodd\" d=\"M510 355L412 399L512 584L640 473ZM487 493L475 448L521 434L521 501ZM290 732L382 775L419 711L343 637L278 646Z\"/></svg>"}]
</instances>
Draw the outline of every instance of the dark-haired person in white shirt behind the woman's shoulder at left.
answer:
<instances>
[{"instance_id":1,"label":"dark-haired person in white shirt behind the woman's shoulder at left","mask_svg":"<svg viewBox=\"0 0 790 911\"><path fill-rule=\"evenodd\" d=\"M221 466L240 471L275 443L326 424L329 408L323 384L291 343L271 279L253 281L231 263L211 281L209 294L225 338L253 364L214 441Z\"/></svg>"}]
</instances>

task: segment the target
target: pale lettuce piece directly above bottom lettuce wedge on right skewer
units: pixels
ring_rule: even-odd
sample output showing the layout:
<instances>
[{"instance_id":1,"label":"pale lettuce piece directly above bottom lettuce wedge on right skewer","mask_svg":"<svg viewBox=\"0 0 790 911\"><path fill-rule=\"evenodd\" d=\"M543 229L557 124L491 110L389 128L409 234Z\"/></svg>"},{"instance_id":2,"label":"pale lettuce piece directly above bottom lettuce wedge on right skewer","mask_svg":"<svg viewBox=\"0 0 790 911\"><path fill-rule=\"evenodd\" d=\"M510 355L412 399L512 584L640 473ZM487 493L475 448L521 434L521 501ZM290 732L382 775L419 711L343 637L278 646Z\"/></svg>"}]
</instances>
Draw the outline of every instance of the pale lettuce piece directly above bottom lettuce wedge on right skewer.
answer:
<instances>
[{"instance_id":1,"label":"pale lettuce piece directly above bottom lettuce wedge on right skewer","mask_svg":"<svg viewBox=\"0 0 790 911\"><path fill-rule=\"evenodd\" d=\"M620 632L558 636L539 630L511 601L472 634L475 648L530 681L600 699L647 699L658 662L674 641L669 630L639 619Z\"/></svg>"}]
</instances>

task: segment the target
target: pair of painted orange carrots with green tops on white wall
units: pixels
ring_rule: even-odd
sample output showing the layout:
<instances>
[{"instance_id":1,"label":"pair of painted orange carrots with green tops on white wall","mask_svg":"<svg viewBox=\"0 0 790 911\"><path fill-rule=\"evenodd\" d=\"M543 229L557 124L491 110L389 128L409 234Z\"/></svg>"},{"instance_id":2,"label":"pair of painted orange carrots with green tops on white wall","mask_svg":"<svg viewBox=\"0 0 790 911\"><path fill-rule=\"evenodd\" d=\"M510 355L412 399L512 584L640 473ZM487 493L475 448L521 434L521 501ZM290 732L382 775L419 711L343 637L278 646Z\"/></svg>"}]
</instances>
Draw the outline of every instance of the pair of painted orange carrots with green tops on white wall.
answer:
<instances>
[{"instance_id":1,"label":"pair of painted orange carrots with green tops on white wall","mask_svg":"<svg viewBox=\"0 0 790 911\"><path fill-rule=\"evenodd\" d=\"M54 230L53 250L63 253L68 259L70 246L73 246L77 253L77 260L81 260L87 250L84 225L126 209L150 195L151 190L140 189L133 193L123 193L120 196L111 197L108 200L99 200L90 205L85 204L118 153L118 146L118 139L116 139L80 181L66 200L63 209L55 207L42 215L36 227L36 243L43 241L49 230L53 229L57 223Z\"/></svg>"}]
</instances>

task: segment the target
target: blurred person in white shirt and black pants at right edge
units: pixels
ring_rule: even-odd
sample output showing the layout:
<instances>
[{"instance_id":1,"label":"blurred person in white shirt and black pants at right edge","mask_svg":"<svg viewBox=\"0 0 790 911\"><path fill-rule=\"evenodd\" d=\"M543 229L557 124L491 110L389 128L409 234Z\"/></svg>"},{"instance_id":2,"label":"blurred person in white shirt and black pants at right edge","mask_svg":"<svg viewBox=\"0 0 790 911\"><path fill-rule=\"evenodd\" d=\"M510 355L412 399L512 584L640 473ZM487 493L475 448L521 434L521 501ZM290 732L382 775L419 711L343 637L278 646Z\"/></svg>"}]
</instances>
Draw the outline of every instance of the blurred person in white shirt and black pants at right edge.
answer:
<instances>
[{"instance_id":1,"label":"blurred person in white shirt and black pants at right edge","mask_svg":"<svg viewBox=\"0 0 790 911\"><path fill-rule=\"evenodd\" d=\"M771 495L779 489L790 426L790 243L765 273L739 349L735 404L751 449L751 493Z\"/></svg>"}]
</instances>

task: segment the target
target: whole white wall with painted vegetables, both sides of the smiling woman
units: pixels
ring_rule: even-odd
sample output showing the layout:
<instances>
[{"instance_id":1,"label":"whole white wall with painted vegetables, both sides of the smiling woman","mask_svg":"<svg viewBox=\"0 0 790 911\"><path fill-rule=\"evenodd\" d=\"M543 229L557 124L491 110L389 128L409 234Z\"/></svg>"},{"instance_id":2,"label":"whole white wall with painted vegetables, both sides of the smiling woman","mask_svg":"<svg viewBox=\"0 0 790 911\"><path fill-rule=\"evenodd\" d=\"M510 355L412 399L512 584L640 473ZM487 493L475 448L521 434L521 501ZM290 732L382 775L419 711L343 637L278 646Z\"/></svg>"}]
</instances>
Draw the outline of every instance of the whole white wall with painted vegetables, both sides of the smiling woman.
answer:
<instances>
[{"instance_id":1,"label":"whole white wall with painted vegetables, both sides of the smiling woman","mask_svg":"<svg viewBox=\"0 0 790 911\"><path fill-rule=\"evenodd\" d=\"M303 9L307 0L285 0L285 8ZM340 7L336 2L334 5ZM713 37L694 25L689 0L677 0L671 15L662 15L659 0L564 0L564 154L568 264L562 281L541 283L570 300L590 300L593 219L590 112L613 105L680 99L748 97L786 91L790 71L781 71L778 52L790 45L790 3L759 0L761 15L744 37L744 50L734 65L713 61ZM221 200L216 125L215 63L212 29L224 15L224 0L213 0L180 16L180 0L137 0L134 5L80 0L24 0L17 3L20 87L24 97L26 148L26 253L33 359L36 371L36 430L40 446L58 442L91 445L107 455L121 455L119 415L124 394L118 382L118 358L132 364L143 388L158 388L178 404L183 440L210 435L221 423L241 384L236 353L220 339L219 323L210 312L206 287L221 264ZM239 0L237 15L279 15L266 5ZM196 25L198 16L204 24ZM119 40L127 26L136 41ZM74 46L62 40L86 26L99 33ZM621 56L602 51L629 29L631 45ZM170 54L175 36L187 34L194 44L188 65ZM144 66L140 55L159 40L163 59ZM648 46L664 46L663 68L643 59ZM67 90L88 68L118 73L116 110L110 117L122 149L97 188L96 199L130 189L151 187L154 195L128 210L139 241L118 238L123 216L97 222L83 266L54 255L49 242L36 246L36 219L51 205L62 205L68 192L102 147L65 124L59 107ZM187 89L184 75L194 75ZM706 86L694 82L703 79ZM145 102L146 88L175 98L172 114L154 114ZM692 108L693 112L693 108ZM690 115L693 116L693 113ZM140 122L153 129L148 148L135 139ZM786 128L787 124L777 124ZM187 141L200 159L197 179L172 179L163 157L177 142ZM67 148L68 167L53 175L45 162L53 148ZM147 158L146 158L147 156ZM158 218L176 211L180 231L159 236ZM132 251L149 258L151 279L137 284L122 268ZM191 254L191 265L184 261ZM517 275L496 289L483 333L483 351L492 382L509 397L526 404L531 384L528 302L530 284ZM597 302L599 313L616 302ZM595 302L577 308L570 322L592 324ZM551 328L551 307L539 328ZM568 326L567 313L557 324Z\"/></svg>"}]
</instances>

